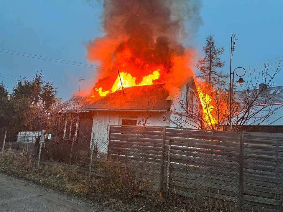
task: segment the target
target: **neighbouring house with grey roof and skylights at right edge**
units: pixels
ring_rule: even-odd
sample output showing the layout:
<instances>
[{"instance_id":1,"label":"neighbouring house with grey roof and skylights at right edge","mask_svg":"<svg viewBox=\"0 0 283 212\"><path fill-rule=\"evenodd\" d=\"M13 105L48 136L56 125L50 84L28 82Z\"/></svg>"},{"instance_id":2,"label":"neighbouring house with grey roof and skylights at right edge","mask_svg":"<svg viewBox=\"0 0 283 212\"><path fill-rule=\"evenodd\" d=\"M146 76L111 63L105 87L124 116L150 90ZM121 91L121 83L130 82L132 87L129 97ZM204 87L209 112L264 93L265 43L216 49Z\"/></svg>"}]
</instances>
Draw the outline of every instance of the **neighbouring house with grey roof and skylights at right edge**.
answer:
<instances>
[{"instance_id":1,"label":"neighbouring house with grey roof and skylights at right edge","mask_svg":"<svg viewBox=\"0 0 283 212\"><path fill-rule=\"evenodd\" d=\"M260 89L265 89L257 98L254 107L250 108L250 113L256 113L255 116L246 120L241 127L241 131L253 132L283 132L283 86L267 87L264 83L259 84ZM249 98L256 90L237 91L235 94L236 101L238 100L240 107L242 102L240 99ZM268 99L268 101L266 101ZM236 119L243 116L245 111L240 112L232 117L232 123Z\"/></svg>"}]
</instances>

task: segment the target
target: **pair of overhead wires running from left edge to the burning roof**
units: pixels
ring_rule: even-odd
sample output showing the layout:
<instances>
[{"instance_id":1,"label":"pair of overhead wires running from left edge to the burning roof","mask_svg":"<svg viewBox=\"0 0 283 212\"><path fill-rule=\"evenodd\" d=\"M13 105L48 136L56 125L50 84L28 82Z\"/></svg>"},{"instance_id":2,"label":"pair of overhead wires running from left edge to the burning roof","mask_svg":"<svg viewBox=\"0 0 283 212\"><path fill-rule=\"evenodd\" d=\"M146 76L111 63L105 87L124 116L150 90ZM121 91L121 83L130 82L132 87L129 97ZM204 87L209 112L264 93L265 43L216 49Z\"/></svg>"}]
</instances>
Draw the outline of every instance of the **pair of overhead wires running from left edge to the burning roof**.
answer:
<instances>
[{"instance_id":1,"label":"pair of overhead wires running from left edge to the burning roof","mask_svg":"<svg viewBox=\"0 0 283 212\"><path fill-rule=\"evenodd\" d=\"M2 50L3 50L3 49L2 49ZM5 49L4 49L4 50L5 50ZM11 51L11 50L5 50L5 51ZM92 68L92 69L99 69L99 70L103 70L103 71L111 71L111 72L116 72L116 71L117 71L116 69L113 69L113 68L95 66L95 65L90 65L90 64L85 64L85 63L79 63L79 62L72 62L72 61L68 61L68 60L55 59L55 58L51 58L51 57L43 57L43 56L39 56L39 55L35 55L35 54L28 54L28 55L33 55L33 56L37 56L37 57L32 57L32 56L28 56L28 55L23 55L23 54L27 54L27 53L21 53L21 52L19 52L19 53L21 53L21 54L12 53L12 52L16 52L16 51L11 51L11 52L0 51L0 52L7 53L7 54L20 55L20 56L30 57L30 58L35 58L35 59L47 60L47 61L51 61L51 62L64 63L64 64L75 65L75 66L81 66L81 67ZM38 57L50 58L50 59L43 59L43 58L38 58ZM55 60L54 60L54 59L55 59ZM56 61L56 60L60 60L60 61ZM66 62L61 62L61 61L66 61ZM69 63L69 62L72 62L72 63ZM73 63L76 63L76 64L73 64ZM78 65L78 64L84 64L84 65Z\"/></svg>"}]
</instances>

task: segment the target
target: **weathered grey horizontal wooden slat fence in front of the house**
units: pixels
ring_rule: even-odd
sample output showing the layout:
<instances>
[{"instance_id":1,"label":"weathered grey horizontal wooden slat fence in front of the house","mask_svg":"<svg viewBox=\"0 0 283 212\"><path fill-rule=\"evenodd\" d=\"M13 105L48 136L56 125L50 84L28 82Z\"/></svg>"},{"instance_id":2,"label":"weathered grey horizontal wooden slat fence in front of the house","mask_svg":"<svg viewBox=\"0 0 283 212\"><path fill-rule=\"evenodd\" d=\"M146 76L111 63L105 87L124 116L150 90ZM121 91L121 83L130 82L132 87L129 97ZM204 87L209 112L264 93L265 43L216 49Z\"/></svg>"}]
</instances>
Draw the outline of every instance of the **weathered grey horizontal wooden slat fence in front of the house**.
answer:
<instances>
[{"instance_id":1,"label":"weathered grey horizontal wooden slat fence in front of the house","mask_svg":"<svg viewBox=\"0 0 283 212\"><path fill-rule=\"evenodd\" d=\"M108 162L155 190L283 210L282 133L111 125L109 134Z\"/></svg>"}]
</instances>

